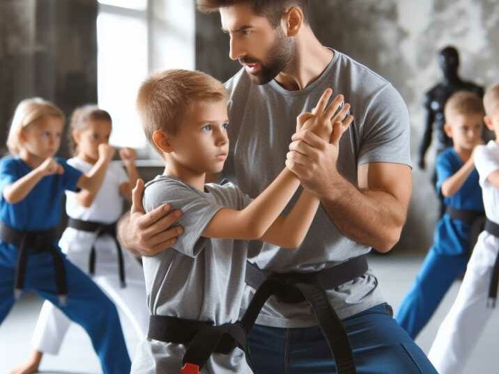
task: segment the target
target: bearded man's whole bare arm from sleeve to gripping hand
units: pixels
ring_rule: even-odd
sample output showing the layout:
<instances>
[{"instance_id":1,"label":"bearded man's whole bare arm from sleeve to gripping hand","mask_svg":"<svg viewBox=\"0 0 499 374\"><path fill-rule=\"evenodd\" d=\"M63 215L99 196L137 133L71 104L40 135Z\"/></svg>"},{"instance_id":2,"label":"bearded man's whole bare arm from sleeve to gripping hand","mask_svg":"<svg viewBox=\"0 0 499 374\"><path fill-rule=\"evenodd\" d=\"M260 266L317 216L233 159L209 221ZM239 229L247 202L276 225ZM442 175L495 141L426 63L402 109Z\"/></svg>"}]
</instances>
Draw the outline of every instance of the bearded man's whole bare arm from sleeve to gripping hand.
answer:
<instances>
[{"instance_id":1,"label":"bearded man's whole bare arm from sleeve to gripping hand","mask_svg":"<svg viewBox=\"0 0 499 374\"><path fill-rule=\"evenodd\" d=\"M291 155L313 157L305 171L295 172L306 189L321 197L343 235L381 252L393 247L404 226L412 193L409 166L383 162L361 165L357 188L337 171L338 148L334 144L311 132L299 132L293 135L290 149Z\"/></svg>"}]
</instances>

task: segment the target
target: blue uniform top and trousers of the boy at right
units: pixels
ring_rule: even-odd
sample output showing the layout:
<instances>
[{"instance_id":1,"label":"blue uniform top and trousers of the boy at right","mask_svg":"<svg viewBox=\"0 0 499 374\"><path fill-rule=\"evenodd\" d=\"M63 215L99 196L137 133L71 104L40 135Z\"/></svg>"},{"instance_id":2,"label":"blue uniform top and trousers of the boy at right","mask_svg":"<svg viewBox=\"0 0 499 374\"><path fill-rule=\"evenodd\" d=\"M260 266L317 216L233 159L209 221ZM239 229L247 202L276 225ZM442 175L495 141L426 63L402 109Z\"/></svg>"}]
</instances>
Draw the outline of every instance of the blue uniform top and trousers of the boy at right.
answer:
<instances>
[{"instance_id":1,"label":"blue uniform top and trousers of the boy at right","mask_svg":"<svg viewBox=\"0 0 499 374\"><path fill-rule=\"evenodd\" d=\"M454 148L447 148L440 153L436 161L438 192L442 183L462 166L463 162ZM444 198L445 206L484 214L482 189L478 180L478 173L474 169L454 195ZM469 259L470 228L470 224L452 219L448 214L438 221L433 247L395 318L412 338L427 324L452 282L465 272Z\"/></svg>"}]
</instances>

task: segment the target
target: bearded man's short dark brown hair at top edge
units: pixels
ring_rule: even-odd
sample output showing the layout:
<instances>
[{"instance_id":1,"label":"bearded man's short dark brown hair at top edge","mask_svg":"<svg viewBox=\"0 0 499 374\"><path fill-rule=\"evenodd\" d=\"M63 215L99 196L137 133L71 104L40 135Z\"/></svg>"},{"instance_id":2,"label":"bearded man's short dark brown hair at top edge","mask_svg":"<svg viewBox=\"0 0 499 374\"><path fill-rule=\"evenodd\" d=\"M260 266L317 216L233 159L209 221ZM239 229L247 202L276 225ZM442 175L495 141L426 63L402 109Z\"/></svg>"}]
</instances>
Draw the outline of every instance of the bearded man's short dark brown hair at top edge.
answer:
<instances>
[{"instance_id":1,"label":"bearded man's short dark brown hair at top edge","mask_svg":"<svg viewBox=\"0 0 499 374\"><path fill-rule=\"evenodd\" d=\"M292 6L301 8L303 20L307 22L308 0L197 0L197 8L203 13L212 13L240 3L249 4L254 13L267 17L273 27L279 26L282 15Z\"/></svg>"}]
</instances>

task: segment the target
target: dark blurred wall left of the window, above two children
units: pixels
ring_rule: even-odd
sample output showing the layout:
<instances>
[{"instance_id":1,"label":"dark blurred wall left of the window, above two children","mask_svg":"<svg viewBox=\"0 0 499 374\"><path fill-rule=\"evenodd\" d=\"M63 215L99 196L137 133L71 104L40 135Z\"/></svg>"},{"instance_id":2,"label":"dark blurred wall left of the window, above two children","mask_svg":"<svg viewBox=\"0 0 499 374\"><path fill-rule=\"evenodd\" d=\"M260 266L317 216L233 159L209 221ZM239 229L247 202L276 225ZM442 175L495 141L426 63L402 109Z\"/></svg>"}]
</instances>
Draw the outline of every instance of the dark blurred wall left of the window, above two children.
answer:
<instances>
[{"instance_id":1,"label":"dark blurred wall left of the window, above two children","mask_svg":"<svg viewBox=\"0 0 499 374\"><path fill-rule=\"evenodd\" d=\"M97 101L96 0L0 1L0 150L17 102Z\"/></svg>"}]
</instances>

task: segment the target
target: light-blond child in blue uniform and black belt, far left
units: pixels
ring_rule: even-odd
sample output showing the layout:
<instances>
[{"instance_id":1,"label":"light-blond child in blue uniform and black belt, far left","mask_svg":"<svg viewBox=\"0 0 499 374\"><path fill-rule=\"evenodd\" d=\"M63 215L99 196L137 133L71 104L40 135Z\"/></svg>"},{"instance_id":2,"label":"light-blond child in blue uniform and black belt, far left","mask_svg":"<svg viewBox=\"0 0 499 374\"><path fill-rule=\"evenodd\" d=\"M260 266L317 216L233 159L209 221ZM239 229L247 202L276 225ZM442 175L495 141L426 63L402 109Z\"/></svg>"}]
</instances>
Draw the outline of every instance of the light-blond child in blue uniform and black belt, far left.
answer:
<instances>
[{"instance_id":1,"label":"light-blond child in blue uniform and black belt, far left","mask_svg":"<svg viewBox=\"0 0 499 374\"><path fill-rule=\"evenodd\" d=\"M54 234L64 191L95 193L114 151L102 145L95 167L82 174L53 157L63 125L61 110L39 98L22 101L15 111L7 141L13 156L0 160L0 322L16 296L33 290L86 330L104 373L129 373L114 304L66 260Z\"/></svg>"}]
</instances>

